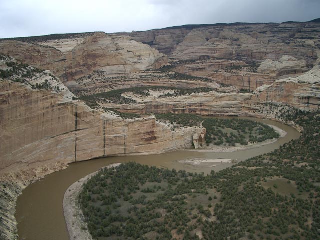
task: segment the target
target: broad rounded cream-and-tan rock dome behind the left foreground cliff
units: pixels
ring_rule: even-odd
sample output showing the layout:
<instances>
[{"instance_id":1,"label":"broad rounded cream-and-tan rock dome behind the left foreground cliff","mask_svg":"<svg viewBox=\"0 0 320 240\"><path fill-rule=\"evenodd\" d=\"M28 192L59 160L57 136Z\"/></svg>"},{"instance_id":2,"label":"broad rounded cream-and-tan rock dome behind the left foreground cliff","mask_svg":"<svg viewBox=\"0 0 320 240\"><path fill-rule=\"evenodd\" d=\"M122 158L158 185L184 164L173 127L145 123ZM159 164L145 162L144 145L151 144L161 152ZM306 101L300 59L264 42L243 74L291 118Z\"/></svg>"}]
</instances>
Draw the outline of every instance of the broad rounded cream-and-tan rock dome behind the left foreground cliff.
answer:
<instances>
[{"instance_id":1,"label":"broad rounded cream-and-tan rock dome behind the left foreground cliff","mask_svg":"<svg viewBox=\"0 0 320 240\"><path fill-rule=\"evenodd\" d=\"M93 71L109 75L159 68L167 63L162 53L127 36L93 35L27 43L1 41L0 53L43 70L51 70L63 82Z\"/></svg>"}]
</instances>

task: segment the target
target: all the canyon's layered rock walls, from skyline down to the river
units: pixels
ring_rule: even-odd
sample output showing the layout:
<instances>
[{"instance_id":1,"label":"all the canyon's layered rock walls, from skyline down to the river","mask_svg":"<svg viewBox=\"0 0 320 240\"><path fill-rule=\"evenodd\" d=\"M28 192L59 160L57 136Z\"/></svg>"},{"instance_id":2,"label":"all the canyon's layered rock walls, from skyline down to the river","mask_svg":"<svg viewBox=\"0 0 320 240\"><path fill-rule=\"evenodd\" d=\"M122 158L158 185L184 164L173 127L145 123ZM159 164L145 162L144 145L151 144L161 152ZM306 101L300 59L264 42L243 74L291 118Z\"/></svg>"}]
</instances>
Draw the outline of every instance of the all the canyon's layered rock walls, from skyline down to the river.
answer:
<instances>
[{"instance_id":1,"label":"all the canyon's layered rock walls, from skyline down to the river","mask_svg":"<svg viewBox=\"0 0 320 240\"><path fill-rule=\"evenodd\" d=\"M319 108L319 46L318 19L0 39L1 237L17 238L22 189L68 163L204 143L205 128L173 129L154 113L277 118L263 109ZM13 72L19 62L29 66ZM80 100L131 87L158 89L123 93L129 104ZM163 87L210 91L172 96Z\"/></svg>"}]
</instances>

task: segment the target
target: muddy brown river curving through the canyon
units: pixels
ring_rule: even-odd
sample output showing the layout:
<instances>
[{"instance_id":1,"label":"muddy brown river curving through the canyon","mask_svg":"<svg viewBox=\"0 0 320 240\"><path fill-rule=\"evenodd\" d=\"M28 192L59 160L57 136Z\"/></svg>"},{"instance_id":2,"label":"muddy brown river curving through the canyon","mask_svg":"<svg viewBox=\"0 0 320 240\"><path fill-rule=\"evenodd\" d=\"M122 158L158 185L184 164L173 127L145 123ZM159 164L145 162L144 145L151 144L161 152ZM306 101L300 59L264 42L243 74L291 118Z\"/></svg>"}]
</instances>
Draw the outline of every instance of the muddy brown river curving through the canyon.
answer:
<instances>
[{"instance_id":1,"label":"muddy brown river curving through the canyon","mask_svg":"<svg viewBox=\"0 0 320 240\"><path fill-rule=\"evenodd\" d=\"M244 118L244 117L241 117ZM253 156L271 152L285 142L300 136L298 131L287 125L271 120L252 119L266 124L274 125L287 134L274 143L256 148L239 150L236 152L212 153L196 151L174 151L164 154L147 156L117 156L82 161L69 164L62 171L47 175L42 180L29 185L18 197L16 206L16 220L18 222L19 239L28 240L68 240L68 233L63 216L62 201L66 189L78 179L98 170L99 168L117 162L135 161L141 164L155 165L158 167L183 169L191 172L204 172L221 170L234 163L208 162L190 164L181 162L193 159L233 159L242 161Z\"/></svg>"}]
</instances>

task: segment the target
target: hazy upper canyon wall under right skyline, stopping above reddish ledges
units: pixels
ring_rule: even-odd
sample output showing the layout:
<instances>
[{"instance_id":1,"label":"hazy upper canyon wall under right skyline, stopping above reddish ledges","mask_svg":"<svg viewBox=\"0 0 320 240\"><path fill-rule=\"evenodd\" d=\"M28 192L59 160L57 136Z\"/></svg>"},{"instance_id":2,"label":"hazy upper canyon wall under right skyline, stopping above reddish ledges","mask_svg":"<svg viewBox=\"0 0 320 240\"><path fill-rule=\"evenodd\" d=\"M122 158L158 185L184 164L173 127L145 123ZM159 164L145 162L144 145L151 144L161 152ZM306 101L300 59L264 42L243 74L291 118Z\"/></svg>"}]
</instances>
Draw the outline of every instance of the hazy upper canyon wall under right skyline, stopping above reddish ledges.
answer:
<instances>
[{"instance_id":1,"label":"hazy upper canyon wall under right skyline, stopping above reddish ledges","mask_svg":"<svg viewBox=\"0 0 320 240\"><path fill-rule=\"evenodd\" d=\"M176 26L128 35L175 59L263 61L291 55L312 63L319 27L318 22L232 23Z\"/></svg>"}]
</instances>

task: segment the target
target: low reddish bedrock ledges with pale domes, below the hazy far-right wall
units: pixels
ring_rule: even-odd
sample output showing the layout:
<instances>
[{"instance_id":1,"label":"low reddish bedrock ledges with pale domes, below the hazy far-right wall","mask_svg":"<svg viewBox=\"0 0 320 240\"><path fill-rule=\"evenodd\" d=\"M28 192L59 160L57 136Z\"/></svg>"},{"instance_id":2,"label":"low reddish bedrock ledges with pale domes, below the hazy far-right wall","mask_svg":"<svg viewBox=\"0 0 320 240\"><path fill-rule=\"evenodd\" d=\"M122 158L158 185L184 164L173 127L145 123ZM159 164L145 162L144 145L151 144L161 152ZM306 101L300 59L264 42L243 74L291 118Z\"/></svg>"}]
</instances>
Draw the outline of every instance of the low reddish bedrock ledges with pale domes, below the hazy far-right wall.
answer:
<instances>
[{"instance_id":1,"label":"low reddish bedrock ledges with pale domes, below the hazy far-right wall","mask_svg":"<svg viewBox=\"0 0 320 240\"><path fill-rule=\"evenodd\" d=\"M250 90L308 70L304 60L288 55L283 55L279 60L264 60L259 66L235 60L197 60L174 68L179 73L206 77L218 83Z\"/></svg>"}]
</instances>

